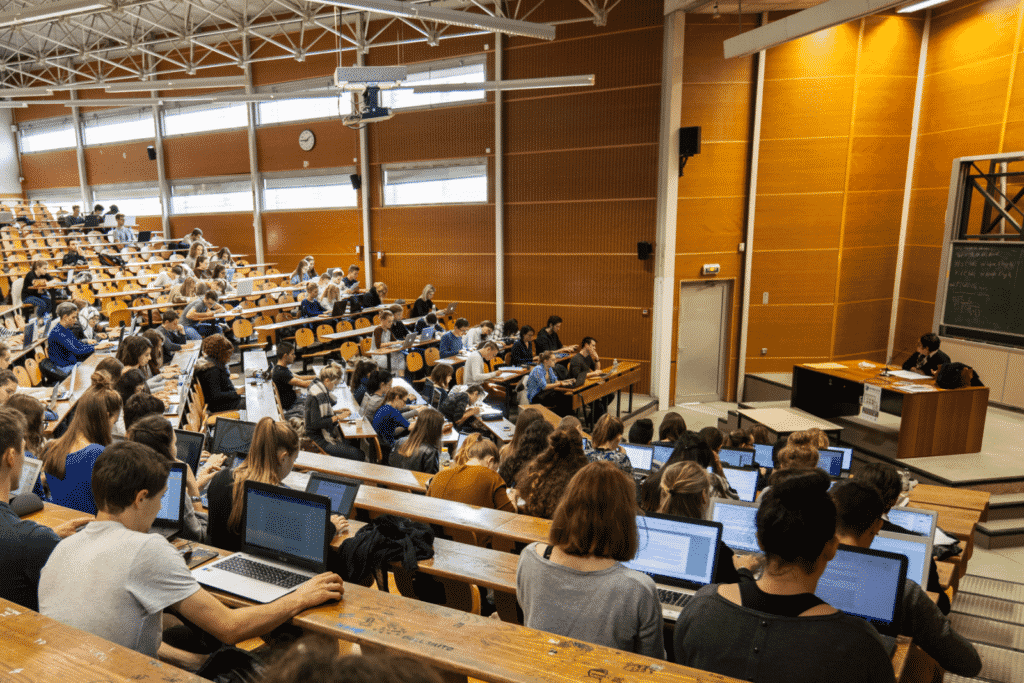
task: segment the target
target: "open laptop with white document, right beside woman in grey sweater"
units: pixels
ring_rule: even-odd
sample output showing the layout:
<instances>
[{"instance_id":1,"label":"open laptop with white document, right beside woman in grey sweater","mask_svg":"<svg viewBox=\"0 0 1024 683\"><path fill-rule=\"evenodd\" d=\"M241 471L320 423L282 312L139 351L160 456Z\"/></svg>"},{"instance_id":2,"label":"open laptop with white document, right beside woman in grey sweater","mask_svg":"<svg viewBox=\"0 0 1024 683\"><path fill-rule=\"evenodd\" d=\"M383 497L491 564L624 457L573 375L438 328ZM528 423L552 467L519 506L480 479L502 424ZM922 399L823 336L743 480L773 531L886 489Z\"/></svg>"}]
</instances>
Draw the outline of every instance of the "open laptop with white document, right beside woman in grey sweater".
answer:
<instances>
[{"instance_id":1,"label":"open laptop with white document, right beside woman in grey sweater","mask_svg":"<svg viewBox=\"0 0 1024 683\"><path fill-rule=\"evenodd\" d=\"M715 580L722 524L650 513L637 516L639 548L626 566L657 585L665 618L676 621L690 597Z\"/></svg>"}]
</instances>

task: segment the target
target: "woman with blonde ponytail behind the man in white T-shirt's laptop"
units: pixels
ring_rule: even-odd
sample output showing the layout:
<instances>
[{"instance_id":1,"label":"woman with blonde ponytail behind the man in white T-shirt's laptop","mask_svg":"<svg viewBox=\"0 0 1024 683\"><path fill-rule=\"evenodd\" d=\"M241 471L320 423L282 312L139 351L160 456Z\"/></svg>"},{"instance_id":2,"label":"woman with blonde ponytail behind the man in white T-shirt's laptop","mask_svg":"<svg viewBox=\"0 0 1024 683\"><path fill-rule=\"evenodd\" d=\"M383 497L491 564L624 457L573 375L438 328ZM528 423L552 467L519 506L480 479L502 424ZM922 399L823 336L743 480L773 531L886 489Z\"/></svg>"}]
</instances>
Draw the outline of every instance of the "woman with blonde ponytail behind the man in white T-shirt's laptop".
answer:
<instances>
[{"instance_id":1,"label":"woman with blonde ponytail behind the man in white T-shirt's laptop","mask_svg":"<svg viewBox=\"0 0 1024 683\"><path fill-rule=\"evenodd\" d=\"M263 418L256 425L249 456L232 470L221 470L210 481L210 545L221 550L242 547L242 511L246 481L286 487L285 477L299 457L299 435L287 422ZM329 521L328 538L348 529L341 515Z\"/></svg>"}]
</instances>

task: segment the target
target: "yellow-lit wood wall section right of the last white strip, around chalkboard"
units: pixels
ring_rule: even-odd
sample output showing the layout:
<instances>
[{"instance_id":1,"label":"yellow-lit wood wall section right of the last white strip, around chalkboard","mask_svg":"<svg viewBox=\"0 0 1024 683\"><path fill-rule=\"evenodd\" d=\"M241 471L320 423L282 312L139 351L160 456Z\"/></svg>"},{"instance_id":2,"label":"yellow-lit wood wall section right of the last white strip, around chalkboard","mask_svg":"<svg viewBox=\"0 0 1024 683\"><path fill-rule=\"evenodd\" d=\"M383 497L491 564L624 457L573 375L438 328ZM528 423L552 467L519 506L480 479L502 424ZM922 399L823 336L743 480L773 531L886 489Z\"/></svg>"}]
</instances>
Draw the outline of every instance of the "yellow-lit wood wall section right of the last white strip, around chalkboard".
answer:
<instances>
[{"instance_id":1,"label":"yellow-lit wood wall section right of the last white strip, around chalkboard","mask_svg":"<svg viewBox=\"0 0 1024 683\"><path fill-rule=\"evenodd\" d=\"M932 331L952 160L1024 150L1022 0L932 10L894 358Z\"/></svg>"}]
</instances>

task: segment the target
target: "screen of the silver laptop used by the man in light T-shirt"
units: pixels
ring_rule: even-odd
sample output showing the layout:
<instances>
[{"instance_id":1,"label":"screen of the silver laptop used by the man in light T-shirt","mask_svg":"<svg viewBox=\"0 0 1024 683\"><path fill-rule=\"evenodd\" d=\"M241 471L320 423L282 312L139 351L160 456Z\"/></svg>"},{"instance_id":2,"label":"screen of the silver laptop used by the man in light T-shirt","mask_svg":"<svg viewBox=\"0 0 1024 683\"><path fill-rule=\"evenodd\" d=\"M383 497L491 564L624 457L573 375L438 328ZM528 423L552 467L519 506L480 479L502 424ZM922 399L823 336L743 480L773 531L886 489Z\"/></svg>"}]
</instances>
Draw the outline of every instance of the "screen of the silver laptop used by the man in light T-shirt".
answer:
<instances>
[{"instance_id":1,"label":"screen of the silver laptop used by the man in light T-shirt","mask_svg":"<svg viewBox=\"0 0 1024 683\"><path fill-rule=\"evenodd\" d=\"M246 482L243 550L249 546L284 561L294 558L323 565L329 504L328 499L313 500L287 488Z\"/></svg>"}]
</instances>

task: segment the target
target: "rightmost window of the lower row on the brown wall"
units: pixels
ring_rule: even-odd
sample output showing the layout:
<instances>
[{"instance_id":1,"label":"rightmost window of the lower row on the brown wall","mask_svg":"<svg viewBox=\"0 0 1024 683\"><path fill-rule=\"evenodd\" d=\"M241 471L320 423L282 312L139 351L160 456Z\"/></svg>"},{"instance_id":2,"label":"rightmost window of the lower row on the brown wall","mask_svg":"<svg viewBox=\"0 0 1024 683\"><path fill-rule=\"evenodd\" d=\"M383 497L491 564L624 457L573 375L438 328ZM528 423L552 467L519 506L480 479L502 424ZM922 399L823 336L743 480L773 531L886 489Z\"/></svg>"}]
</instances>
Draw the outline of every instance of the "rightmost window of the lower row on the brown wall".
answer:
<instances>
[{"instance_id":1,"label":"rightmost window of the lower row on the brown wall","mask_svg":"<svg viewBox=\"0 0 1024 683\"><path fill-rule=\"evenodd\" d=\"M487 164L468 159L447 166L384 167L384 204L480 204L487 201Z\"/></svg>"}]
</instances>

